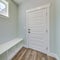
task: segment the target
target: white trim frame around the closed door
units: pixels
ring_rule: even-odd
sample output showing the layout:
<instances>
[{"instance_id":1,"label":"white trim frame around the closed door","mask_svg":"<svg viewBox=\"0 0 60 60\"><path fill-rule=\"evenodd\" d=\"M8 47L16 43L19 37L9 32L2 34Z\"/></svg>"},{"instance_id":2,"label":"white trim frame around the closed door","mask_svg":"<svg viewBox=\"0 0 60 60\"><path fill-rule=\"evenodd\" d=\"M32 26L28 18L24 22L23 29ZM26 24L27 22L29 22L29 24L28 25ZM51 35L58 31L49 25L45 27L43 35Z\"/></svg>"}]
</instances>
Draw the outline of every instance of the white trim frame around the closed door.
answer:
<instances>
[{"instance_id":1,"label":"white trim frame around the closed door","mask_svg":"<svg viewBox=\"0 0 60 60\"><path fill-rule=\"evenodd\" d=\"M27 13L28 12L32 12L32 11L35 11L35 10L38 10L38 9L44 9L44 8L48 8L48 25L49 25L49 36L48 36L48 38L49 38L49 41L48 41L48 52L47 53L49 53L50 52L50 6L51 6L51 3L48 3L48 4L46 4L46 5L42 5L42 6L40 6L40 7L36 7L36 8L32 8L32 9L29 9L29 10L26 10L26 40L27 40L27 38L28 38L28 36L27 36L27 29L28 29L28 20L27 20ZM26 46L25 47L29 47L29 43L28 43L28 40L26 41Z\"/></svg>"}]
</instances>

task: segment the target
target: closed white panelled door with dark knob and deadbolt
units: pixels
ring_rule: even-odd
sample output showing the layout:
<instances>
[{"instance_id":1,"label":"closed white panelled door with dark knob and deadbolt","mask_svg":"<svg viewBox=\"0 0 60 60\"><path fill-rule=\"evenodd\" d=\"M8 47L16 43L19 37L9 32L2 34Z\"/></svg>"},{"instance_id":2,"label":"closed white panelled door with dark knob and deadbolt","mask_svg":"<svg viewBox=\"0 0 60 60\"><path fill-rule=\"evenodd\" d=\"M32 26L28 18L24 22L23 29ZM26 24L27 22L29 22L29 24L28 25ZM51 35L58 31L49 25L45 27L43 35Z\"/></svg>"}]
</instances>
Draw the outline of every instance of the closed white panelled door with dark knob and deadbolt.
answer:
<instances>
[{"instance_id":1,"label":"closed white panelled door with dark knob and deadbolt","mask_svg":"<svg viewBox=\"0 0 60 60\"><path fill-rule=\"evenodd\" d=\"M48 52L49 49L49 9L41 8L27 12L28 47Z\"/></svg>"}]
</instances>

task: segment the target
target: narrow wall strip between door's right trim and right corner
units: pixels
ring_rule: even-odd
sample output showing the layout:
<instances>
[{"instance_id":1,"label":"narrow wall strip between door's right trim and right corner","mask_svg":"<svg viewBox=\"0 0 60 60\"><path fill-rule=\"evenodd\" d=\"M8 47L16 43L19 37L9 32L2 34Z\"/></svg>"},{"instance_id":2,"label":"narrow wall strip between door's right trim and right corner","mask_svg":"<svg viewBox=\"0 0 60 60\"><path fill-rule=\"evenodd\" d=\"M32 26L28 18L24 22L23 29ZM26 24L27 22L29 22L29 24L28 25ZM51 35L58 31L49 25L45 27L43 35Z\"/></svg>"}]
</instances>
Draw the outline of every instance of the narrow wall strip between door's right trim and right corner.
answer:
<instances>
[{"instance_id":1,"label":"narrow wall strip between door's right trim and right corner","mask_svg":"<svg viewBox=\"0 0 60 60\"><path fill-rule=\"evenodd\" d=\"M55 53L55 0L50 3L50 52Z\"/></svg>"}]
</instances>

